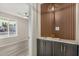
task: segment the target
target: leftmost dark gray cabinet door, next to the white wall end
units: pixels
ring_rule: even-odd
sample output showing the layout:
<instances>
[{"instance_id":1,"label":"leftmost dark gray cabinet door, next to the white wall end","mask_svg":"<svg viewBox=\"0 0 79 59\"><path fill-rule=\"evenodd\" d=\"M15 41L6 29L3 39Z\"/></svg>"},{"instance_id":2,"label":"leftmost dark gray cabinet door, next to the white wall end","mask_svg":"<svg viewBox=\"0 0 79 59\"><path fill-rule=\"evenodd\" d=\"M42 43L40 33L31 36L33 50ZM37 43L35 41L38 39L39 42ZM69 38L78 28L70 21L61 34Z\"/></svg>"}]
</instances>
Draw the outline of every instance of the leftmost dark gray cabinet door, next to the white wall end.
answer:
<instances>
[{"instance_id":1,"label":"leftmost dark gray cabinet door, next to the white wall end","mask_svg":"<svg viewBox=\"0 0 79 59\"><path fill-rule=\"evenodd\" d=\"M45 55L45 41L44 40L37 40L37 55L44 56Z\"/></svg>"}]
</instances>

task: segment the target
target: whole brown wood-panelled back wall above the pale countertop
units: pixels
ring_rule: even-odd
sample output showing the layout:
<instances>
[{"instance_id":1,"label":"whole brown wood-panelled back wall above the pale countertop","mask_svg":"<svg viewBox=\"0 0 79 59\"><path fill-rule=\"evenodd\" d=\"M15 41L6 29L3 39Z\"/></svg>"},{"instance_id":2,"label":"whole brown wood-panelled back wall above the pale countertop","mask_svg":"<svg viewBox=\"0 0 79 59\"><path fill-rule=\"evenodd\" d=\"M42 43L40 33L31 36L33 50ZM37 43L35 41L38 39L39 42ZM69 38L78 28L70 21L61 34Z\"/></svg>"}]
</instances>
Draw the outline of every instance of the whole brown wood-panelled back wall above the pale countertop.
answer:
<instances>
[{"instance_id":1,"label":"whole brown wood-panelled back wall above the pale countertop","mask_svg":"<svg viewBox=\"0 0 79 59\"><path fill-rule=\"evenodd\" d=\"M75 40L75 3L41 5L41 36ZM59 30L56 30L56 28Z\"/></svg>"}]
</instances>

